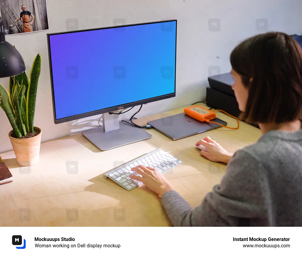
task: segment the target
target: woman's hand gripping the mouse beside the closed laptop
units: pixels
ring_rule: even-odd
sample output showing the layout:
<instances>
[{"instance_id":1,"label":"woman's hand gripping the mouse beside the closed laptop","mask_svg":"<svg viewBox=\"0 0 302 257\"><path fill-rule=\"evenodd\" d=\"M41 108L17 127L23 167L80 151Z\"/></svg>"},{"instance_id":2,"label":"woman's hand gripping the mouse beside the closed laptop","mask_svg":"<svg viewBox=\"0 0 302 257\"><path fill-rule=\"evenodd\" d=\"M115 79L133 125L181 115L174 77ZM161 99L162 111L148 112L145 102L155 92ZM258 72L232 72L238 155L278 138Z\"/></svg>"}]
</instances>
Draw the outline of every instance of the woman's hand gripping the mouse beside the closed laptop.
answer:
<instances>
[{"instance_id":1,"label":"woman's hand gripping the mouse beside the closed laptop","mask_svg":"<svg viewBox=\"0 0 302 257\"><path fill-rule=\"evenodd\" d=\"M210 161L228 163L233 154L224 150L221 145L212 140L210 137L206 137L196 143L196 146L203 145L207 151L201 150L200 155L206 157Z\"/></svg>"}]
</instances>

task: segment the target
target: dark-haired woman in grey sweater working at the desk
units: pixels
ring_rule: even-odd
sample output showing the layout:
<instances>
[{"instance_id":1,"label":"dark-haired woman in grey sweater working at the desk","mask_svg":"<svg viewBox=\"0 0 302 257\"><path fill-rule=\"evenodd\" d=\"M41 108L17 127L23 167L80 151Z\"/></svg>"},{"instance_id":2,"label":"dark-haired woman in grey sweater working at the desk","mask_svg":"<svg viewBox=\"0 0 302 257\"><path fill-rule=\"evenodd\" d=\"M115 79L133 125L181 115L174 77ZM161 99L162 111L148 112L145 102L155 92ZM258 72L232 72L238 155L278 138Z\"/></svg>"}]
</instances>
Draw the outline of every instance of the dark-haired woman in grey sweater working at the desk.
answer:
<instances>
[{"instance_id":1,"label":"dark-haired woman in grey sweater working at the desk","mask_svg":"<svg viewBox=\"0 0 302 257\"><path fill-rule=\"evenodd\" d=\"M196 143L211 161L228 163L220 185L194 210L158 171L143 177L174 226L302 226L302 50L284 33L260 34L231 53L242 118L259 124L260 139L229 154L210 138Z\"/></svg>"}]
</instances>

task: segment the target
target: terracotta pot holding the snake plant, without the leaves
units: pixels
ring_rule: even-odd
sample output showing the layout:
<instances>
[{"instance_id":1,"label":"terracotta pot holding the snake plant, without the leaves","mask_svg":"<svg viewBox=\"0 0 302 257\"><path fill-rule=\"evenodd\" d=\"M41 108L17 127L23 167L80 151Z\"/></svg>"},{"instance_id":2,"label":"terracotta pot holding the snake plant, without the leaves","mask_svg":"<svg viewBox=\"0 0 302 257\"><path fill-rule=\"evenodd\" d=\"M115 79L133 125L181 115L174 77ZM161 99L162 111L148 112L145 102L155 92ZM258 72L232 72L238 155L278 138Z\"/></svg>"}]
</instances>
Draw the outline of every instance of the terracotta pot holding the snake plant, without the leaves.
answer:
<instances>
[{"instance_id":1,"label":"terracotta pot holding the snake plant, without the leaves","mask_svg":"<svg viewBox=\"0 0 302 257\"><path fill-rule=\"evenodd\" d=\"M14 130L8 133L17 162L21 166L31 166L39 162L42 129L34 128L39 129L40 133L32 138L13 138L11 134Z\"/></svg>"}]
</instances>

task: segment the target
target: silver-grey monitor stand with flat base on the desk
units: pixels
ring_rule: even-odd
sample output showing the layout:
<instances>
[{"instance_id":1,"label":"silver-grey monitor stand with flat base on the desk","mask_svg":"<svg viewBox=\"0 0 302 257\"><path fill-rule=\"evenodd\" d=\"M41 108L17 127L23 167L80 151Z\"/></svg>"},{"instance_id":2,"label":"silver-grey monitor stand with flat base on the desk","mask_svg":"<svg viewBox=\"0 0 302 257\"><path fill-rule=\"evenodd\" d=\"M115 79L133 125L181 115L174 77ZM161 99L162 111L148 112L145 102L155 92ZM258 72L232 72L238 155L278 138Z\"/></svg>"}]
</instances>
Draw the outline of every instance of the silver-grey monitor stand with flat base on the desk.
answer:
<instances>
[{"instance_id":1,"label":"silver-grey monitor stand with flat base on the desk","mask_svg":"<svg viewBox=\"0 0 302 257\"><path fill-rule=\"evenodd\" d=\"M152 137L144 129L119 122L117 114L104 113L102 119L103 126L82 131L82 135L102 151Z\"/></svg>"}]
</instances>

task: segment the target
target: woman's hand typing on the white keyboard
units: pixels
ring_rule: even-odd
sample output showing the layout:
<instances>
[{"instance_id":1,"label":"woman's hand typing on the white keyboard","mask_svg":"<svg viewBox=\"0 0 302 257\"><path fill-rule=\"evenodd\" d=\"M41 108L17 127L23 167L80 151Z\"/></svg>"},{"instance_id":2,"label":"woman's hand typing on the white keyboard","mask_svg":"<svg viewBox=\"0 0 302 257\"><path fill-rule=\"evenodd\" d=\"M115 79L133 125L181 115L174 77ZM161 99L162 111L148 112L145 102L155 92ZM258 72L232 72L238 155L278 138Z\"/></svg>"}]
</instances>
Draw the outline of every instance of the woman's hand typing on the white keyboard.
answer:
<instances>
[{"instance_id":1,"label":"woman's hand typing on the white keyboard","mask_svg":"<svg viewBox=\"0 0 302 257\"><path fill-rule=\"evenodd\" d=\"M157 170L151 167L145 167L143 165L139 165L135 168L132 168L131 171L135 171L140 176L130 175L132 179L136 179L137 181L143 182L146 187L148 187L151 191L162 196L165 192L173 190L172 186L166 180L166 178L160 174Z\"/></svg>"}]
</instances>

